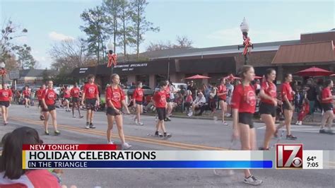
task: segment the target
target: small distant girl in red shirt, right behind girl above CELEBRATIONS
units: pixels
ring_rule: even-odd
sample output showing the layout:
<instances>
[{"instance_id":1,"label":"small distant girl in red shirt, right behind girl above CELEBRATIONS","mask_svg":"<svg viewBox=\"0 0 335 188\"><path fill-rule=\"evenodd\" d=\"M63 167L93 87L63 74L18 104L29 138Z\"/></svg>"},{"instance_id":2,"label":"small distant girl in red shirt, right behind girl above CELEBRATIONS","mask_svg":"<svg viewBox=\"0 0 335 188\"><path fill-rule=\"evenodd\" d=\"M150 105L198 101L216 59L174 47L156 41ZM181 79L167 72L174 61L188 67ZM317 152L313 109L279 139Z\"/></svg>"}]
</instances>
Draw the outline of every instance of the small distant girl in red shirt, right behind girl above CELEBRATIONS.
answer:
<instances>
[{"instance_id":1,"label":"small distant girl in red shirt, right behind girl above CELEBRATIONS","mask_svg":"<svg viewBox=\"0 0 335 188\"><path fill-rule=\"evenodd\" d=\"M141 117L140 117L141 113L143 113L143 96L144 96L144 93L142 89L142 82L139 81L133 93L133 100L134 100L133 104L134 104L134 107L136 107L136 117L134 121L135 121L135 124L137 125L143 125L143 123L141 122Z\"/></svg>"}]
</instances>

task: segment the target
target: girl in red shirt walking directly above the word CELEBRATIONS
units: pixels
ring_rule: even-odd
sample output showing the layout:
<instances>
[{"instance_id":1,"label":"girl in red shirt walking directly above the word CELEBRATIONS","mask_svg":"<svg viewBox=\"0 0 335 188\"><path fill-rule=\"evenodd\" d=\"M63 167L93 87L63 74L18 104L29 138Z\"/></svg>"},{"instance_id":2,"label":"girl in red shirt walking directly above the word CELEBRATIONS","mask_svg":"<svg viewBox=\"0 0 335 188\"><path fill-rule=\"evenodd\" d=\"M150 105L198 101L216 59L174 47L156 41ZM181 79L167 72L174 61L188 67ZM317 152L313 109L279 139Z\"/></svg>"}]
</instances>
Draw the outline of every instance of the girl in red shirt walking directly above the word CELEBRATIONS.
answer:
<instances>
[{"instance_id":1,"label":"girl in red shirt walking directly above the word CELEBRATIONS","mask_svg":"<svg viewBox=\"0 0 335 188\"><path fill-rule=\"evenodd\" d=\"M122 141L122 148L129 149L131 145L127 143L124 139L124 132L123 132L123 119L122 119L122 105L127 110L127 114L130 114L129 109L127 107L125 101L125 95L122 88L119 87L120 78L117 74L112 74L110 76L110 86L106 88L106 105L107 105L107 143L113 144L111 141L112 139L112 129L114 120L117 123L117 130L119 131L119 138Z\"/></svg>"}]
</instances>

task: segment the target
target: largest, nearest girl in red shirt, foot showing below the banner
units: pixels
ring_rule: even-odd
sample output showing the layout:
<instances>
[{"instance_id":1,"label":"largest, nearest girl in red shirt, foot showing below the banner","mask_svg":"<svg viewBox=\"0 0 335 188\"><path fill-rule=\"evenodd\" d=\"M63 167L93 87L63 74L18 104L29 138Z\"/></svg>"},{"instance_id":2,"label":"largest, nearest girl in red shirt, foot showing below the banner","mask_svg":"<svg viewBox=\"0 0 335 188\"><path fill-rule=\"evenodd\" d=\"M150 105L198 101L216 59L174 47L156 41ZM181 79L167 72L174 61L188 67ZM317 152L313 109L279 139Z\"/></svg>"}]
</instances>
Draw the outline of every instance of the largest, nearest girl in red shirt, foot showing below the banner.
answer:
<instances>
[{"instance_id":1,"label":"largest, nearest girl in red shirt, foot showing below the banner","mask_svg":"<svg viewBox=\"0 0 335 188\"><path fill-rule=\"evenodd\" d=\"M250 82L254 80L254 68L249 65L240 69L242 83L233 91L233 139L240 135L242 150L254 150L256 148L256 131L252 117L256 108L256 93ZM257 180L251 175L249 169L245 169L246 184L259 185L263 181Z\"/></svg>"}]
</instances>

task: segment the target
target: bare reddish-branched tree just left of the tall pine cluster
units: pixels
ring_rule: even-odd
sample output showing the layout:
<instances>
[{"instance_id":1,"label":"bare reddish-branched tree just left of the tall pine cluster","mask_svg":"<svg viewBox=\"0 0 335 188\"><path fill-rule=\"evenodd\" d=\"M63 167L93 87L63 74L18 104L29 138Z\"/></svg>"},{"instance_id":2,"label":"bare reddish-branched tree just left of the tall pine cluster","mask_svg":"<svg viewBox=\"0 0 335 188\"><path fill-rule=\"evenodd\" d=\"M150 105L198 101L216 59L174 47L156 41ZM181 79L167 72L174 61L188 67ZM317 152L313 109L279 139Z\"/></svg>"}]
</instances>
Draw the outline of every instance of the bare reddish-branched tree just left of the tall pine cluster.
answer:
<instances>
[{"instance_id":1,"label":"bare reddish-branched tree just left of the tall pine cluster","mask_svg":"<svg viewBox=\"0 0 335 188\"><path fill-rule=\"evenodd\" d=\"M52 68L59 71L74 69L84 66L92 54L87 49L88 42L81 38L77 40L63 40L52 45L49 55L52 58Z\"/></svg>"}]
</instances>

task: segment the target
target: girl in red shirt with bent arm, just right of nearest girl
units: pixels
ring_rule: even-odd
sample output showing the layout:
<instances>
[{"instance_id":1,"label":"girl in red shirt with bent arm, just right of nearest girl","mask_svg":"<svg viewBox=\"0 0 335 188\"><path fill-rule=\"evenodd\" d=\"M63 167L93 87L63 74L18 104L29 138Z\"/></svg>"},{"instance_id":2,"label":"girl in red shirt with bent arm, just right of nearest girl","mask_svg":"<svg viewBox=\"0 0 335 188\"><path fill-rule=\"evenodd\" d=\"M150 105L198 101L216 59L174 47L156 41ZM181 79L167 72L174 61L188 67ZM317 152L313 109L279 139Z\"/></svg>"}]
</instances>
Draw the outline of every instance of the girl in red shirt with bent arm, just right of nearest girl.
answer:
<instances>
[{"instance_id":1,"label":"girl in red shirt with bent arm, just right of nearest girl","mask_svg":"<svg viewBox=\"0 0 335 188\"><path fill-rule=\"evenodd\" d=\"M265 81L261 83L259 96L261 97L261 104L259 105L259 113L261 120L266 126L264 146L261 150L268 150L271 137L276 131L276 106L277 106L277 89L274 84L276 79L276 71L274 69L267 69L265 74Z\"/></svg>"}]
</instances>

